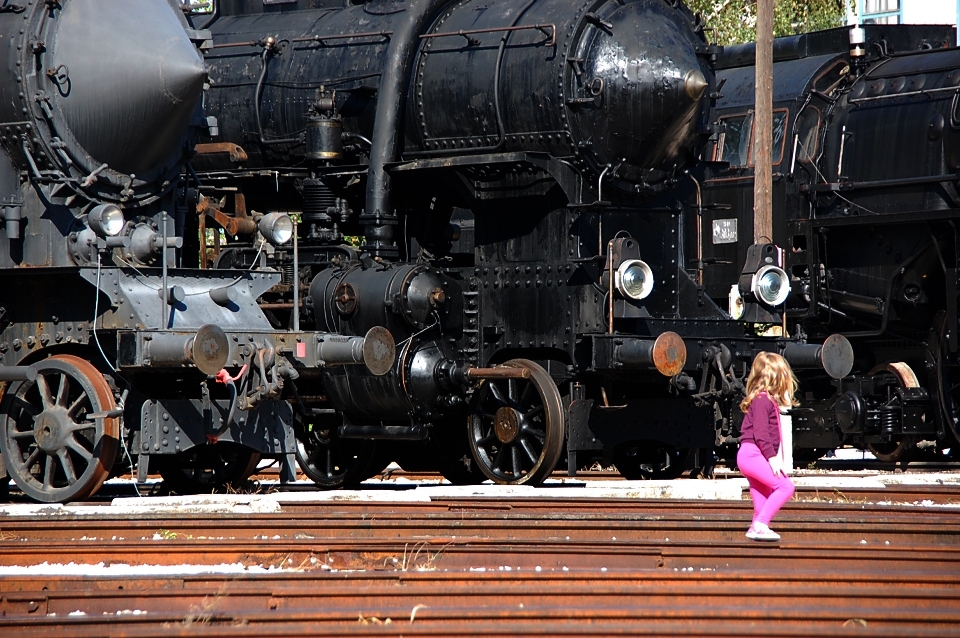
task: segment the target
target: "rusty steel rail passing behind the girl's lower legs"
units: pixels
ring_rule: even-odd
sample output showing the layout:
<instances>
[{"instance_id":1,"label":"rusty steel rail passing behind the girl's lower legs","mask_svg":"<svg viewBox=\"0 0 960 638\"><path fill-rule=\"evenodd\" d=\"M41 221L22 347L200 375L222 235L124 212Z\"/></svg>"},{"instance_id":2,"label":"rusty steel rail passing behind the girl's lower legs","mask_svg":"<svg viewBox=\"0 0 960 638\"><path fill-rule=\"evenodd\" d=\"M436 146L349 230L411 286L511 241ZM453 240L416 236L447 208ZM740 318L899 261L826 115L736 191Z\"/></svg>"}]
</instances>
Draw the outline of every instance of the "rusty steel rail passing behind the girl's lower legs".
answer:
<instances>
[{"instance_id":1,"label":"rusty steel rail passing behind the girl's lower legs","mask_svg":"<svg viewBox=\"0 0 960 638\"><path fill-rule=\"evenodd\" d=\"M744 531L752 508L738 502L680 502L674 507L561 512L554 504L525 509L512 503L503 509L481 504L379 504L344 508L331 504L277 514L135 513L56 517L7 516L0 519L0 539L23 542L90 543L138 539L429 539L452 536L493 540L554 539L623 542L671 537L680 540L734 539ZM960 546L960 508L896 508L852 503L790 505L778 517L778 528L796 541L843 539L851 530L871 542L947 543ZM577 507L576 505L574 506ZM856 507L856 513L850 508ZM106 512L105 512L106 513ZM694 517L695 518L692 518ZM68 523L68 524L65 524ZM0 546L2 547L2 546Z\"/></svg>"}]
</instances>

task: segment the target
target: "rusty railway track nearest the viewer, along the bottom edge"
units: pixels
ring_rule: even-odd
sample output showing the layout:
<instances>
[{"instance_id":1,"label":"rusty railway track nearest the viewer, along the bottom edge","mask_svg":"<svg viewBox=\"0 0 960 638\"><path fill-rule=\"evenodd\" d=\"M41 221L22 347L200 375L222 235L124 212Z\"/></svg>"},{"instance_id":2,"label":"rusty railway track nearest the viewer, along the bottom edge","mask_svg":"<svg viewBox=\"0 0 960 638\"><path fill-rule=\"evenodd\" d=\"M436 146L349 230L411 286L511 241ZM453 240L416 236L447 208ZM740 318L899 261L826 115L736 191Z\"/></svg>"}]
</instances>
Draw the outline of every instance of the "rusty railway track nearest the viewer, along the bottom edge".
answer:
<instances>
[{"instance_id":1,"label":"rusty railway track nearest the viewer, along the bottom edge","mask_svg":"<svg viewBox=\"0 0 960 638\"><path fill-rule=\"evenodd\" d=\"M946 636L960 620L949 576L300 573L35 589L42 582L19 581L11 606L20 613L0 627L22 636L97 636L107 626L113 636ZM36 620L14 624L29 614Z\"/></svg>"}]
</instances>

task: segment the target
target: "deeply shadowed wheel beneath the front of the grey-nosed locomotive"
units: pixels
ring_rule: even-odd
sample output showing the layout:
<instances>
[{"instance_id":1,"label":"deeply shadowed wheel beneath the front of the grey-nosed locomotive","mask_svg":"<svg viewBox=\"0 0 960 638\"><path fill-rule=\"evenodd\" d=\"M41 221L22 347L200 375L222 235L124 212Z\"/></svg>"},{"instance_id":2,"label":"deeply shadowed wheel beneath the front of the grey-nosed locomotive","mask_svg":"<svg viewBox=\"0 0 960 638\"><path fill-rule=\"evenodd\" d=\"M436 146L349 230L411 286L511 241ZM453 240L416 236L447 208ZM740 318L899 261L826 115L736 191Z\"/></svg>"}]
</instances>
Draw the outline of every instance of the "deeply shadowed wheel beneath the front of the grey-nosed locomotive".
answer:
<instances>
[{"instance_id":1,"label":"deeply shadowed wheel beneath the front of the grey-nosed locomotive","mask_svg":"<svg viewBox=\"0 0 960 638\"><path fill-rule=\"evenodd\" d=\"M260 453L223 441L154 459L165 487L177 494L210 494L241 487L257 469Z\"/></svg>"}]
</instances>

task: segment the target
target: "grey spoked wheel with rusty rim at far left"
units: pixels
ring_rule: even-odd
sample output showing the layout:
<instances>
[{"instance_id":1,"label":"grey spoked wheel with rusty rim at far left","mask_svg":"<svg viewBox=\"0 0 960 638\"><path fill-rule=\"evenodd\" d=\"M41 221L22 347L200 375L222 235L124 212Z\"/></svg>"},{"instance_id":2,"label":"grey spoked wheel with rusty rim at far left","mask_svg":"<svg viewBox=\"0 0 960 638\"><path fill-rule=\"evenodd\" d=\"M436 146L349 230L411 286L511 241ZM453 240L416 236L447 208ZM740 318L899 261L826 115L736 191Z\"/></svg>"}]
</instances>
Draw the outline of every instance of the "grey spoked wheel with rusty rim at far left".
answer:
<instances>
[{"instance_id":1,"label":"grey spoked wheel with rusty rim at far left","mask_svg":"<svg viewBox=\"0 0 960 638\"><path fill-rule=\"evenodd\" d=\"M96 493L117 454L119 417L89 419L117 407L89 361L65 354L34 364L36 381L8 392L2 411L3 461L23 493L43 503Z\"/></svg>"}]
</instances>

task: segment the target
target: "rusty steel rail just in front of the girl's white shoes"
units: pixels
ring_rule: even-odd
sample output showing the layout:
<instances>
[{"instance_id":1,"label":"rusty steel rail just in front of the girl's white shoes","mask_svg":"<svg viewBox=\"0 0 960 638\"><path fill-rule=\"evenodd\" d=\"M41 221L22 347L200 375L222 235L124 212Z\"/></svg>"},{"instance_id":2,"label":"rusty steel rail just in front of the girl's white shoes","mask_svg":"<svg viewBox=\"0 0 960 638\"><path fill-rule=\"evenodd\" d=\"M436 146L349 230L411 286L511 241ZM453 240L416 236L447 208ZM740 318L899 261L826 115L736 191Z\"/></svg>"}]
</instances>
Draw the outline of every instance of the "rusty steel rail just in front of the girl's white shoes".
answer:
<instances>
[{"instance_id":1,"label":"rusty steel rail just in front of the girl's white shoes","mask_svg":"<svg viewBox=\"0 0 960 638\"><path fill-rule=\"evenodd\" d=\"M742 538L741 533L736 534ZM271 569L316 565L328 569L774 569L884 571L904 563L910 571L960 571L960 547L922 544L912 547L884 541L847 543L783 542L758 545L746 539L651 541L566 539L493 539L402 537L237 541L97 541L11 543L0 547L0 566L96 565L243 565Z\"/></svg>"}]
</instances>

